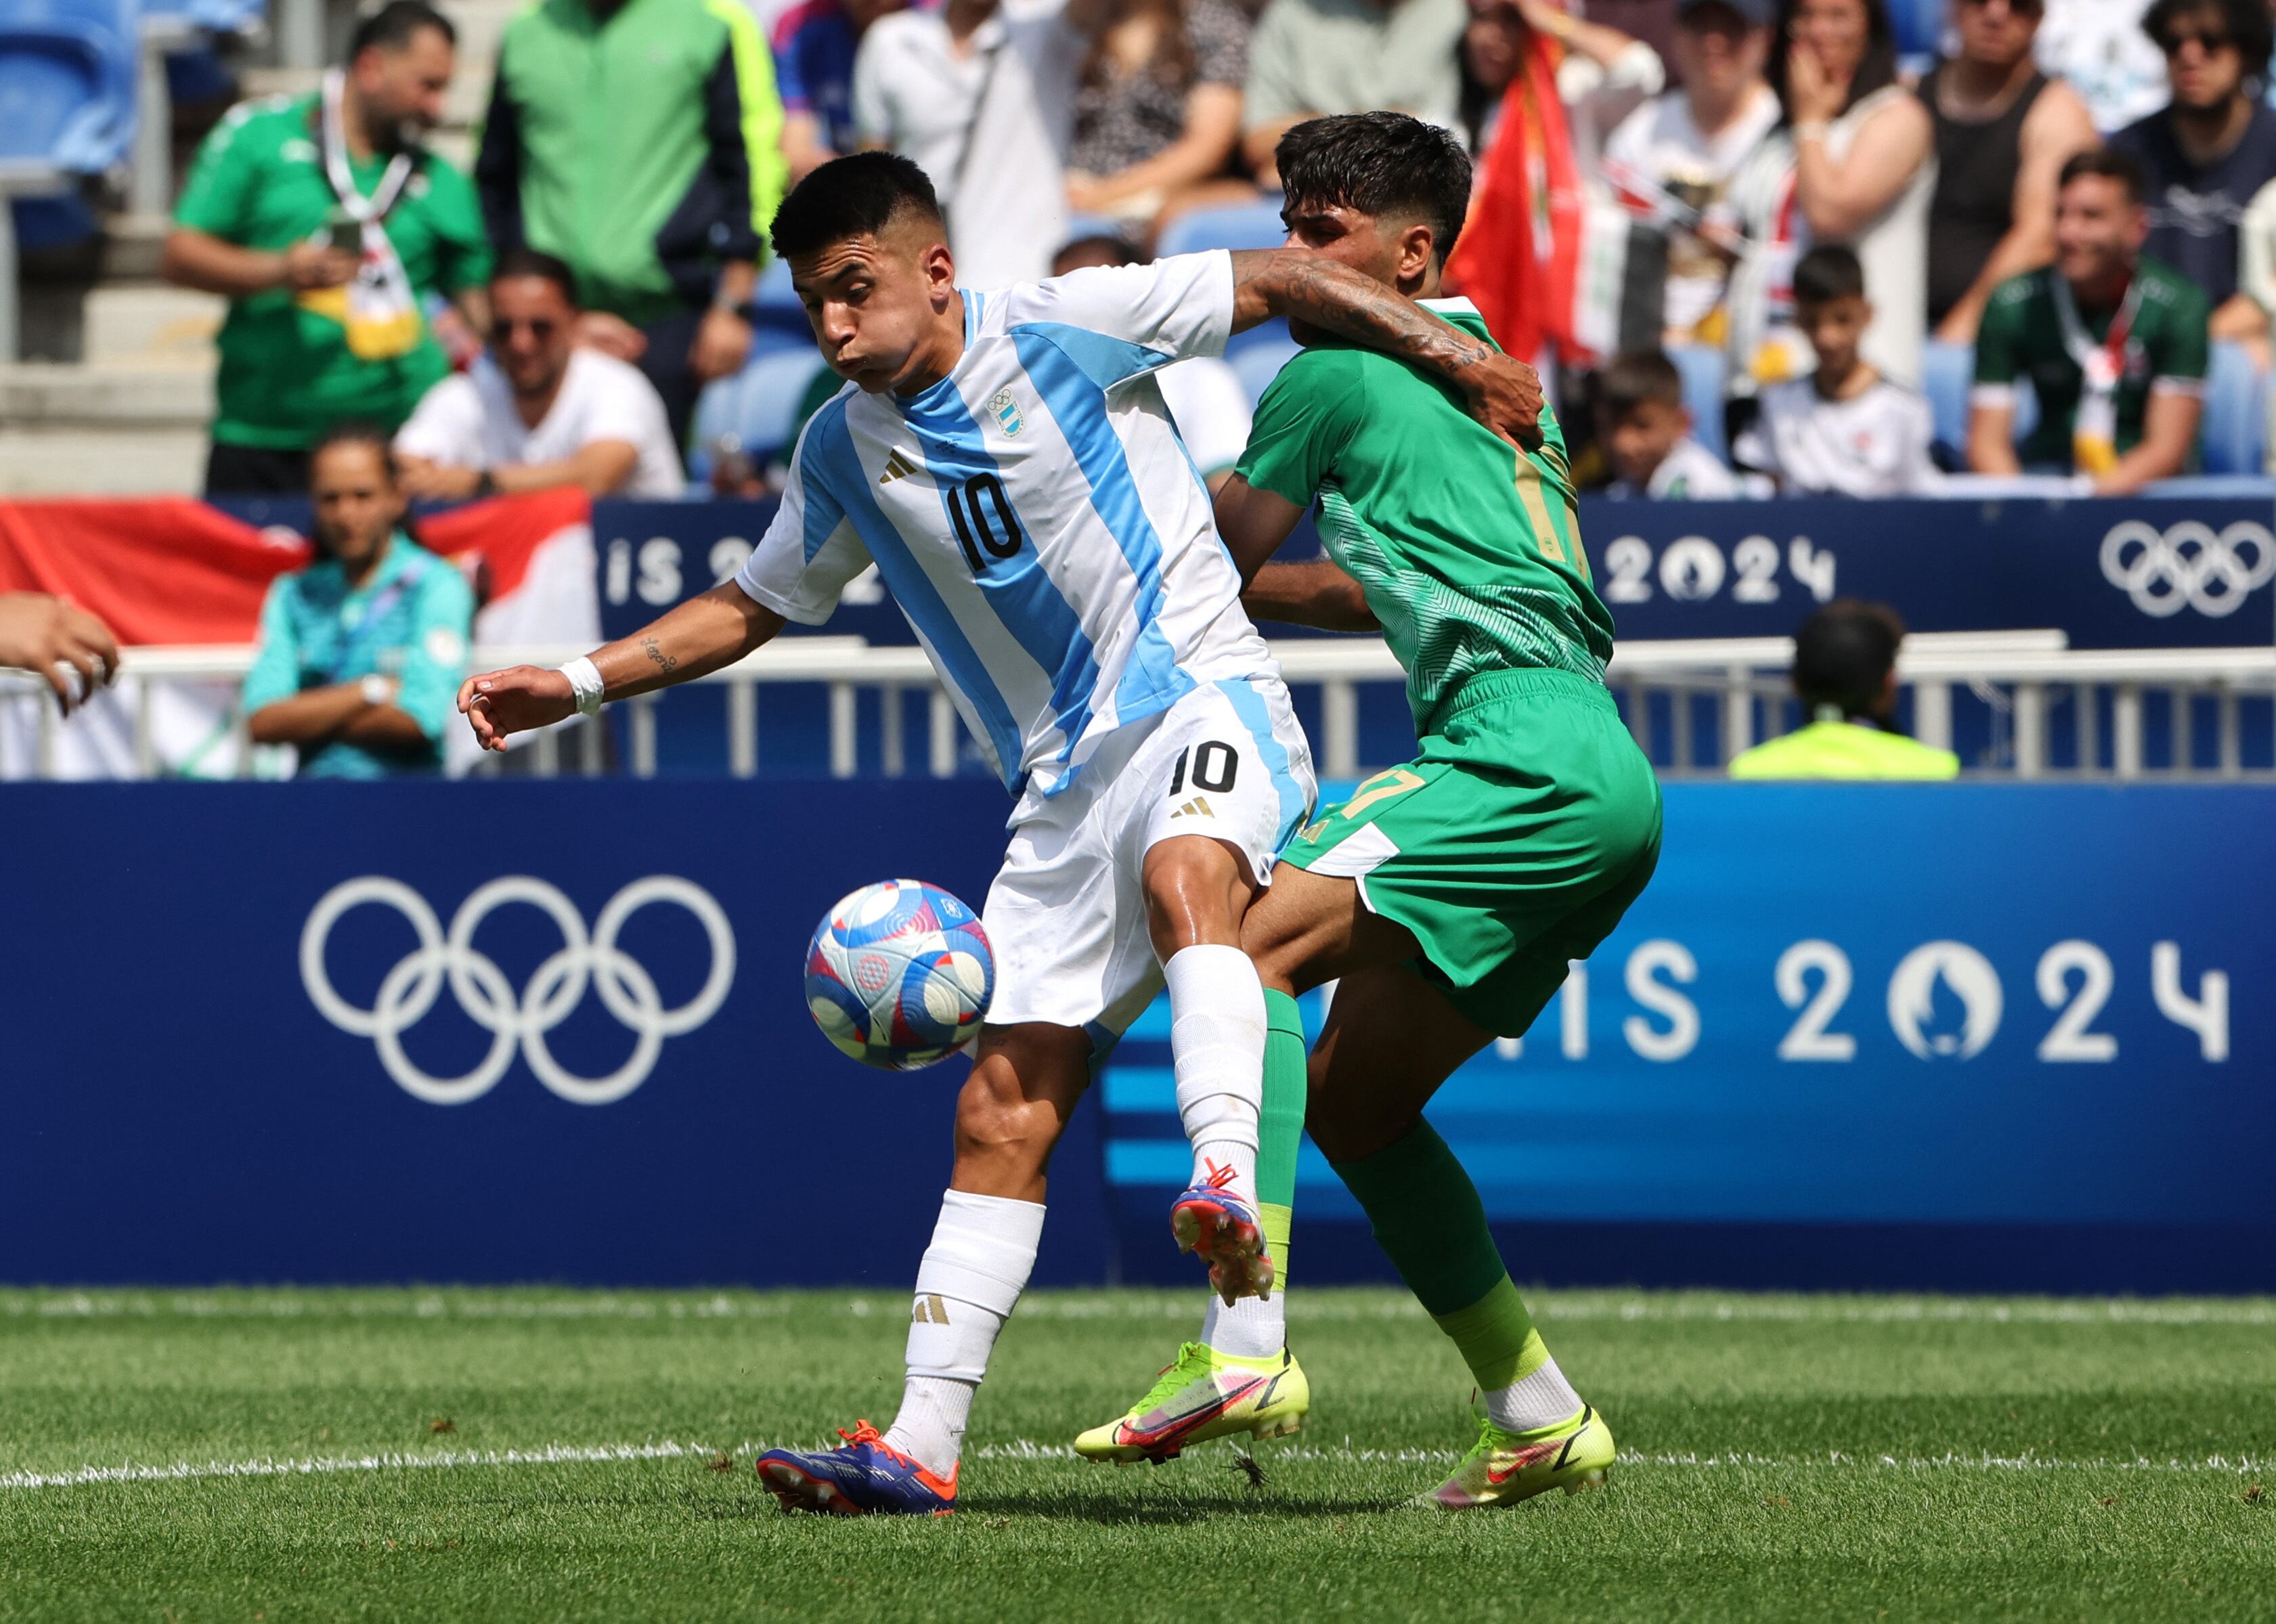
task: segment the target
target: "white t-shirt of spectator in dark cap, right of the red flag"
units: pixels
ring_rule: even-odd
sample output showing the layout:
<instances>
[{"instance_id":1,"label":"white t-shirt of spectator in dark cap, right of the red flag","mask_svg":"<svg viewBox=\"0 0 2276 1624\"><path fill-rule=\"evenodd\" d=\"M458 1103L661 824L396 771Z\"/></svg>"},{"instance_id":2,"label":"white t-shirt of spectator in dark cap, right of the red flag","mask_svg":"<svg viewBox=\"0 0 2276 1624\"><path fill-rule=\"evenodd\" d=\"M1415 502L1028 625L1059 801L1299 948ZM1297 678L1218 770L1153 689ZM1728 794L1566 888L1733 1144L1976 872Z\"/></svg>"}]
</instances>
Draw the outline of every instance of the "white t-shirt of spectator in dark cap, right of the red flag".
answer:
<instances>
[{"instance_id":1,"label":"white t-shirt of spectator in dark cap, right of the red flag","mask_svg":"<svg viewBox=\"0 0 2276 1624\"><path fill-rule=\"evenodd\" d=\"M1636 214L1655 214L1655 200L1636 182L1646 182L1709 218L1730 216L1725 196L1730 177L1746 155L1778 127L1778 96L1757 84L1746 109L1709 139L1691 118L1691 98L1659 96L1632 111L1611 141L1605 143L1605 180L1614 196ZM1723 303L1727 262L1693 232L1668 232L1668 343L1689 343L1716 305Z\"/></svg>"}]
</instances>

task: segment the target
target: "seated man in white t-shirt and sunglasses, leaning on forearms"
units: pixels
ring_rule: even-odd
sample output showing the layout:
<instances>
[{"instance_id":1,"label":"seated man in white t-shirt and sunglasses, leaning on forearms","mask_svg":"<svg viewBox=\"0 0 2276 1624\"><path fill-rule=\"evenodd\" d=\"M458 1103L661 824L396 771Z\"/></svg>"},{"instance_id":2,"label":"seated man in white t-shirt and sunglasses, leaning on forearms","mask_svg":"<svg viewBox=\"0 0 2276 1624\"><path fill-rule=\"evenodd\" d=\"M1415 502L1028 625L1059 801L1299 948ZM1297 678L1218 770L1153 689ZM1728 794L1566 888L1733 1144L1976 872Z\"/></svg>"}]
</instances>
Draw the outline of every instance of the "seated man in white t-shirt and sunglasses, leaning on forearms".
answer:
<instances>
[{"instance_id":1,"label":"seated man in white t-shirt and sunglasses, leaning on forearms","mask_svg":"<svg viewBox=\"0 0 2276 1624\"><path fill-rule=\"evenodd\" d=\"M489 350L426 391L396 432L403 487L430 500L578 484L671 500L687 489L671 423L637 366L578 348L569 266L510 248L489 280Z\"/></svg>"}]
</instances>

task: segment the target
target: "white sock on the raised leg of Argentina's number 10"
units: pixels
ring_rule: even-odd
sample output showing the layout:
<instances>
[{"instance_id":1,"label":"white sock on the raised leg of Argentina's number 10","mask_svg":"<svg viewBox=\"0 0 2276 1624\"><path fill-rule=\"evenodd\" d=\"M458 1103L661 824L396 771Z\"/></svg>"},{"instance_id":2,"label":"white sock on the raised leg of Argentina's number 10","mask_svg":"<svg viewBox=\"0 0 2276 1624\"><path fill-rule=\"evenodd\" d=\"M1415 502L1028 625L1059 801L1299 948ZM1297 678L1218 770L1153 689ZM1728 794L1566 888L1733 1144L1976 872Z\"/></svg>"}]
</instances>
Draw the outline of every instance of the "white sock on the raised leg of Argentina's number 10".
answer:
<instances>
[{"instance_id":1,"label":"white sock on the raised leg of Argentina's number 10","mask_svg":"<svg viewBox=\"0 0 2276 1624\"><path fill-rule=\"evenodd\" d=\"M1190 946L1161 967L1170 985L1177 1115L1193 1142L1193 1183L1256 1205L1256 1117L1265 1099L1265 989L1240 948Z\"/></svg>"}]
</instances>

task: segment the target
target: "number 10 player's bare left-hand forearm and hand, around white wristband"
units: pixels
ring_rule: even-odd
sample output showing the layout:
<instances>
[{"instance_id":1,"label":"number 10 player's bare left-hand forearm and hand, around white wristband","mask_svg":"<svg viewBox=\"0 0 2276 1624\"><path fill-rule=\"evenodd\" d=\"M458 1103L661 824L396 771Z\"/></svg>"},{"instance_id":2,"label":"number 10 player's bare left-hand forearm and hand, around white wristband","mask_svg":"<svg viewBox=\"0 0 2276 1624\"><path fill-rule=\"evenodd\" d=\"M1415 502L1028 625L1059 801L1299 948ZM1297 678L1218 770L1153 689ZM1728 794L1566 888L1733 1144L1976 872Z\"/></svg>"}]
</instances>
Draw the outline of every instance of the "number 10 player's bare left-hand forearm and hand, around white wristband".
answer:
<instances>
[{"instance_id":1,"label":"number 10 player's bare left-hand forearm and hand, around white wristband","mask_svg":"<svg viewBox=\"0 0 2276 1624\"><path fill-rule=\"evenodd\" d=\"M630 637L596 648L589 660L601 676L603 701L630 698L731 666L781 630L781 614L724 580ZM485 751L503 751L512 732L574 716L576 685L567 671L544 666L483 671L457 689L457 710Z\"/></svg>"}]
</instances>

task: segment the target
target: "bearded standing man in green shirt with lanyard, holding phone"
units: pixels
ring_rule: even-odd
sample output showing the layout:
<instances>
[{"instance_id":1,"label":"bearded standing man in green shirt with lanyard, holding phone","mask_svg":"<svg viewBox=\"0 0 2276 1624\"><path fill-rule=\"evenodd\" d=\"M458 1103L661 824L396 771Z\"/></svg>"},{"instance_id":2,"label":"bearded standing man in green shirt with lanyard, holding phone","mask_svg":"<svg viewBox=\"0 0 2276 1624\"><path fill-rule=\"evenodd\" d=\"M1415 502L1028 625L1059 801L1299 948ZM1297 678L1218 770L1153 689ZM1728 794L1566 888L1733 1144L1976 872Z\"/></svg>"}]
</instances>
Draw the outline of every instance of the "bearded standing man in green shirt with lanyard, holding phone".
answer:
<instances>
[{"instance_id":1,"label":"bearded standing man in green shirt with lanyard, holding phone","mask_svg":"<svg viewBox=\"0 0 2276 1624\"><path fill-rule=\"evenodd\" d=\"M473 187L419 146L453 50L439 11L391 0L321 91L244 102L198 148L164 273L230 298L209 496L303 491L328 428L403 423L451 371L426 316L435 296L485 325Z\"/></svg>"}]
</instances>

